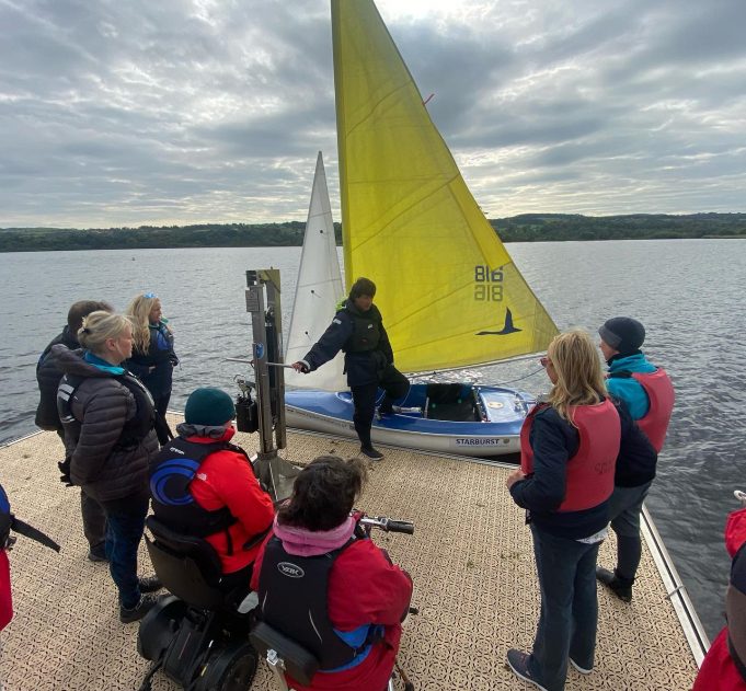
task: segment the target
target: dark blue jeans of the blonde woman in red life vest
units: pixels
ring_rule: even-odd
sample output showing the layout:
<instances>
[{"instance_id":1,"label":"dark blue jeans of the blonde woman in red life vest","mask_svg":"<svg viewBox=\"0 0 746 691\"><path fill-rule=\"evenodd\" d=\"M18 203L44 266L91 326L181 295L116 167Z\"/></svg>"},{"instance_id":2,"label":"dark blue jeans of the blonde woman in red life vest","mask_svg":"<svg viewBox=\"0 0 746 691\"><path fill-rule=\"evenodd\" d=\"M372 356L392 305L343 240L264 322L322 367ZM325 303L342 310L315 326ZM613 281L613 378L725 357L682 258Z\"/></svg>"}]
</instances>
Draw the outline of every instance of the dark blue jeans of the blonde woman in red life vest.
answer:
<instances>
[{"instance_id":1,"label":"dark blue jeans of the blonde woman in red life vest","mask_svg":"<svg viewBox=\"0 0 746 691\"><path fill-rule=\"evenodd\" d=\"M556 538L531 523L541 614L529 671L549 691L562 691L567 657L593 668L598 624L596 557L600 542Z\"/></svg>"}]
</instances>

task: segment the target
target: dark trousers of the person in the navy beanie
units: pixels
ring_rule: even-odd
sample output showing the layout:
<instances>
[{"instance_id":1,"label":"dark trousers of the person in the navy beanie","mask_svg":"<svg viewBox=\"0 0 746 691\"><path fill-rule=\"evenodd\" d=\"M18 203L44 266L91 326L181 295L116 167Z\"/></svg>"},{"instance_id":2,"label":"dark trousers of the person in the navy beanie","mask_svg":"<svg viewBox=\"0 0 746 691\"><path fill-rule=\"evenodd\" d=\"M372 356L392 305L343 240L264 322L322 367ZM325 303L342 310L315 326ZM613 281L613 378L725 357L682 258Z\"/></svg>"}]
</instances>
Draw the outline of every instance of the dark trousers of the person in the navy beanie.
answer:
<instances>
[{"instance_id":1,"label":"dark trousers of the person in the navy beanie","mask_svg":"<svg viewBox=\"0 0 746 691\"><path fill-rule=\"evenodd\" d=\"M653 481L638 487L615 487L609 499L611 529L617 533L617 576L632 585L642 556L640 513Z\"/></svg>"}]
</instances>

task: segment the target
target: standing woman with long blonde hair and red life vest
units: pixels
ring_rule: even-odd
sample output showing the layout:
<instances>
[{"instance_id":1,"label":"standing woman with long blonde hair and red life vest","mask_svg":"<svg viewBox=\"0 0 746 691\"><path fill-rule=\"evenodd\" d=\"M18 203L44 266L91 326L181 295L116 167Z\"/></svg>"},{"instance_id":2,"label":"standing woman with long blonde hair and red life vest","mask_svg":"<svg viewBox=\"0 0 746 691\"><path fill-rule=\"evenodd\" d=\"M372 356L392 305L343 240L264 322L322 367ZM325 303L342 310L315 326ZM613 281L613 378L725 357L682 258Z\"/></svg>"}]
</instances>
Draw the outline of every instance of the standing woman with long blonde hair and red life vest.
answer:
<instances>
[{"instance_id":1,"label":"standing woman with long blonde hair and red life vest","mask_svg":"<svg viewBox=\"0 0 746 691\"><path fill-rule=\"evenodd\" d=\"M584 675L594 665L596 557L622 425L588 334L555 336L541 364L552 389L524 423L520 469L506 482L533 534L541 614L532 652L510 649L507 661L538 689L562 691L569 663Z\"/></svg>"}]
</instances>

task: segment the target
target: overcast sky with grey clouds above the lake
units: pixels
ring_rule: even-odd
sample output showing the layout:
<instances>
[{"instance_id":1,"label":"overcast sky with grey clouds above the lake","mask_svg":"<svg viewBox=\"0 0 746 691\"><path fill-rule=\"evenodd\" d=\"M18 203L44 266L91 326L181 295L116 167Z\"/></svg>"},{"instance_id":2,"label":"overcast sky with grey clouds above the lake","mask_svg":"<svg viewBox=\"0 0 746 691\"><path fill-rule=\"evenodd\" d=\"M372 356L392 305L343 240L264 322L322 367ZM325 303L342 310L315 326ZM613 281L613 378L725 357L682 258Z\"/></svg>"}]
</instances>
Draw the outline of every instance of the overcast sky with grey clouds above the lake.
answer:
<instances>
[{"instance_id":1,"label":"overcast sky with grey clouds above the lake","mask_svg":"<svg viewBox=\"0 0 746 691\"><path fill-rule=\"evenodd\" d=\"M746 0L379 0L490 217L746 210ZM328 0L0 0L0 227L338 220Z\"/></svg>"}]
</instances>

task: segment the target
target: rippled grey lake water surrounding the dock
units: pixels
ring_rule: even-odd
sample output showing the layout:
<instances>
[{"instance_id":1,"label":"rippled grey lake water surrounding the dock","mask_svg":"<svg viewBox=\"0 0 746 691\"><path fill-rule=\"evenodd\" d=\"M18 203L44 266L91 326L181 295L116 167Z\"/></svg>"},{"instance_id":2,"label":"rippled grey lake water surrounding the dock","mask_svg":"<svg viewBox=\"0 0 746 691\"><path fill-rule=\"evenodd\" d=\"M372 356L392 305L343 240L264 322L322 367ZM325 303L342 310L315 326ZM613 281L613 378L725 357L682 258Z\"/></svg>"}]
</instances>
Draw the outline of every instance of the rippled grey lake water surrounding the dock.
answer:
<instances>
[{"instance_id":1,"label":"rippled grey lake water surrounding the dock","mask_svg":"<svg viewBox=\"0 0 746 691\"><path fill-rule=\"evenodd\" d=\"M723 624L728 558L722 531L746 490L743 423L746 241L657 240L507 245L560 329L595 334L607 318L630 315L647 329L644 349L670 373L677 404L647 506L711 637ZM0 254L0 441L35 430L39 353L76 300L106 299L123 310L156 291L171 320L182 365L172 406L199 385L232 389L251 327L245 270L282 272L289 325L300 247L136 250ZM375 279L375 276L372 277ZM386 315L385 315L386 316ZM532 393L547 382L536 362L485 367L466 376ZM461 373L461 377L464 375ZM56 459L54 459L56 460ZM0 479L2 471L0 469ZM503 492L495 487L495 492Z\"/></svg>"}]
</instances>

